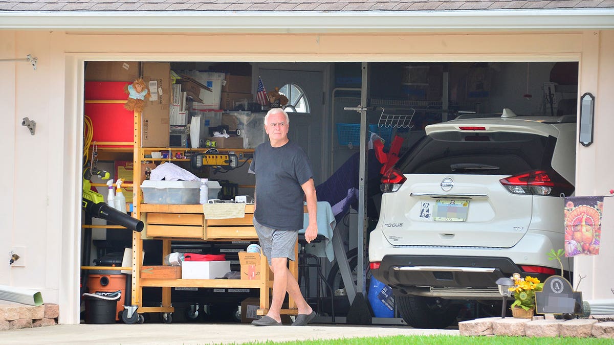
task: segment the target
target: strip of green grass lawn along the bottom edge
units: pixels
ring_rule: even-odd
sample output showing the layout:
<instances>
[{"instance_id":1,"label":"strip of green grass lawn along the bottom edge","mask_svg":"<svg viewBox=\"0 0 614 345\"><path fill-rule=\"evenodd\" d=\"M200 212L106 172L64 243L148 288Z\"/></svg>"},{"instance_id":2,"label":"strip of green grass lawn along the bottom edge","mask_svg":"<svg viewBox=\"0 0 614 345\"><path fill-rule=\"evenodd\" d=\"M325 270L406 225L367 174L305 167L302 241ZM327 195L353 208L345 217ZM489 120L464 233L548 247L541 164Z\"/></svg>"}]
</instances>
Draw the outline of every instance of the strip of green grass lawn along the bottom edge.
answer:
<instances>
[{"instance_id":1,"label":"strip of green grass lawn along the bottom edge","mask_svg":"<svg viewBox=\"0 0 614 345\"><path fill-rule=\"evenodd\" d=\"M454 336L454 335L397 335L381 336L372 338L347 338L347 339L327 339L327 340L308 340L308 341L285 341L276 343L267 341L265 343L247 343L251 345L389 345L389 344L440 344L440 345L475 345L475 344L497 344L497 345L534 345L534 344L614 344L612 339L596 338L529 338L518 336Z\"/></svg>"}]
</instances>

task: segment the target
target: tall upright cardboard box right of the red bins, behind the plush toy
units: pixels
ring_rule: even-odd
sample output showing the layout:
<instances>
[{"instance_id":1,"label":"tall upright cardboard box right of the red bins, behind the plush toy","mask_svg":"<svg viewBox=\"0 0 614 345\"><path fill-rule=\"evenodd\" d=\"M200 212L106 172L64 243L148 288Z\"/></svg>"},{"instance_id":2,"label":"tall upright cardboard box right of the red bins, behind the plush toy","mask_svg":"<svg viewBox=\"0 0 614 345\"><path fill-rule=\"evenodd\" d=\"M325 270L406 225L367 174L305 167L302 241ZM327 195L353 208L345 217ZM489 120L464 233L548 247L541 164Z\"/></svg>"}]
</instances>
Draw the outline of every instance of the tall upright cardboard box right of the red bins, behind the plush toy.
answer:
<instances>
[{"instance_id":1,"label":"tall upright cardboard box right of the red bins, behind the plush toy","mask_svg":"<svg viewBox=\"0 0 614 345\"><path fill-rule=\"evenodd\" d=\"M141 123L142 147L168 147L171 109L171 64L143 63L143 80L151 98L145 102Z\"/></svg>"}]
</instances>

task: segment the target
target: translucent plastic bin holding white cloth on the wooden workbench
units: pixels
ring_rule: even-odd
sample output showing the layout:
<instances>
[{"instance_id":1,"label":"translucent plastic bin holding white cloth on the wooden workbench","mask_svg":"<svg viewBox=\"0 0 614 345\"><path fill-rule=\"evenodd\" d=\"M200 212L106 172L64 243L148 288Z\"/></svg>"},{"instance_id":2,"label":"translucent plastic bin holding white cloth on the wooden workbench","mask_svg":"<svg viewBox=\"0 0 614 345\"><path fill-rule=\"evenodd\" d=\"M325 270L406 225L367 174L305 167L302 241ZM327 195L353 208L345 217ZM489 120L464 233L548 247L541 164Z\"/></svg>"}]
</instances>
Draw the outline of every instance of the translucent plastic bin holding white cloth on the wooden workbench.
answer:
<instances>
[{"instance_id":1,"label":"translucent plastic bin holding white cloth on the wooden workbench","mask_svg":"<svg viewBox=\"0 0 614 345\"><path fill-rule=\"evenodd\" d=\"M198 181L152 181L141 184L146 204L198 204ZM211 195L211 194L210 194Z\"/></svg>"}]
</instances>

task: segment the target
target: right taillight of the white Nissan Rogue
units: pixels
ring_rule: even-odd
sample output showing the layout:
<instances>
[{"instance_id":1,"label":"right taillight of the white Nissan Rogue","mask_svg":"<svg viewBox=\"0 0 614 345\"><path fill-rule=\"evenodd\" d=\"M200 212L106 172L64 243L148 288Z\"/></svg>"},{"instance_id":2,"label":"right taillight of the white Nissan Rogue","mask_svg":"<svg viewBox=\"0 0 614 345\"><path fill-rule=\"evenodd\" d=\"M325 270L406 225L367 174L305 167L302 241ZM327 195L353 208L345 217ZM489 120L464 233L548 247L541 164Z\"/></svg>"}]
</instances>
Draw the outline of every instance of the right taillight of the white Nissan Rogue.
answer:
<instances>
[{"instance_id":1,"label":"right taillight of the white Nissan Rogue","mask_svg":"<svg viewBox=\"0 0 614 345\"><path fill-rule=\"evenodd\" d=\"M505 177L499 182L513 194L559 196L561 193L569 196L574 187L556 172L536 170Z\"/></svg>"}]
</instances>

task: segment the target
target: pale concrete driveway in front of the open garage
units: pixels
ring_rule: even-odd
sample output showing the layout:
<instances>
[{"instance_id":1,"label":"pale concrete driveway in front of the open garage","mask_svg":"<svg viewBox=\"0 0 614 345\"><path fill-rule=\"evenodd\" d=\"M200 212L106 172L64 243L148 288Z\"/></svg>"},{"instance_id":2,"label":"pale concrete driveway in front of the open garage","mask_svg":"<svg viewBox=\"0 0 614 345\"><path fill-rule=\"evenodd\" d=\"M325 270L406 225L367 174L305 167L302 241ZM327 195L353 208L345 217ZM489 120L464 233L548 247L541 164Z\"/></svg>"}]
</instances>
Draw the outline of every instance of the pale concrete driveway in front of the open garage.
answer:
<instances>
[{"instance_id":1,"label":"pale concrete driveway in front of the open garage","mask_svg":"<svg viewBox=\"0 0 614 345\"><path fill-rule=\"evenodd\" d=\"M391 335L459 335L458 330L422 330L408 326L308 325L255 327L250 324L55 325L0 332L7 344L241 344Z\"/></svg>"}]
</instances>

